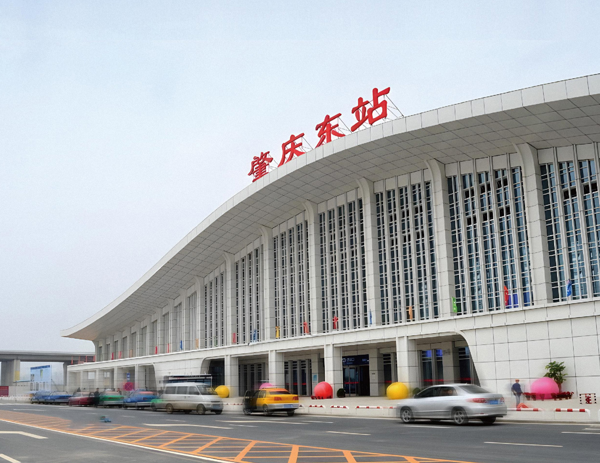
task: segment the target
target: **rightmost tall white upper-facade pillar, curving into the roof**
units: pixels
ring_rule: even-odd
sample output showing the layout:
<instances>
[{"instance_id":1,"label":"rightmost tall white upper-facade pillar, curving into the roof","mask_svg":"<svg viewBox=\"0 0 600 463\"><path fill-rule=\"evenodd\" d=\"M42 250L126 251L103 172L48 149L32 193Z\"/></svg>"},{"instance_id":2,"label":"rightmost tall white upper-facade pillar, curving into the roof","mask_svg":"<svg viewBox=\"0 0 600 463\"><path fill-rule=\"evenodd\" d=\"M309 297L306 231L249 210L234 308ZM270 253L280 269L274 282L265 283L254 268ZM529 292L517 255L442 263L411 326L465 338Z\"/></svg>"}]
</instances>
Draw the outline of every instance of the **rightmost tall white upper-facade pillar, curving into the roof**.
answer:
<instances>
[{"instance_id":1,"label":"rightmost tall white upper-facade pillar, curving into the roof","mask_svg":"<svg viewBox=\"0 0 600 463\"><path fill-rule=\"evenodd\" d=\"M528 143L514 145L523 166L523 190L527 216L527 247L531 269L533 302L552 302L552 277L548 258L548 235L538 150Z\"/></svg>"}]
</instances>

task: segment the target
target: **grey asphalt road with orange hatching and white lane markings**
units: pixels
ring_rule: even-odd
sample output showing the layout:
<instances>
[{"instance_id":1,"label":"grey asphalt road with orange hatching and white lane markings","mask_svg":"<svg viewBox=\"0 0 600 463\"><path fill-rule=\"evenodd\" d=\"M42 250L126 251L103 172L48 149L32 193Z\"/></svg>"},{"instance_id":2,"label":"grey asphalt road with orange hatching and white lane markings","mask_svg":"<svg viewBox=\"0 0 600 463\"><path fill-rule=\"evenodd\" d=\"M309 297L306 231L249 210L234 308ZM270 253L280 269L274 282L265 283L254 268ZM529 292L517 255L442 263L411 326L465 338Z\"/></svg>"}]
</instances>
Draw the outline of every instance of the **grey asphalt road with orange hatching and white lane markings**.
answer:
<instances>
[{"instance_id":1,"label":"grey asphalt road with orange hatching and white lane markings","mask_svg":"<svg viewBox=\"0 0 600 463\"><path fill-rule=\"evenodd\" d=\"M179 435L183 435L181 433L203 434L475 463L598 463L600 461L600 425L598 424L496 423L485 426L473 422L466 426L454 426L450 423L424 421L403 425L397 419L314 414L293 417L285 415L265 417L260 414L244 416L242 413L169 415L164 412L119 408L94 409L23 404L0 405L0 419L2 411L50 417L56 419L56 422L60 419L68 420L72 426L82 429L100 425L100 416L105 415L112 420L112 423L110 425L107 423L106 426L112 427L135 426L168 431L171 434L176 432ZM47 422L44 425L46 427ZM40 434L48 438L40 440L17 434L2 434L2 431L14 430ZM175 434L172 437L178 438ZM21 462L110 462L117 461L117 458L118 461L162 462L193 459L3 421L0 421L0 454ZM318 452L315 453L315 456L317 455ZM197 458L194 459L197 461ZM297 463L300 463L300 460L298 459ZM241 457L240 461L242 461ZM280 463L280 459L263 461ZM310 460L304 461L310 463ZM312 461L336 463L340 460L316 458ZM367 462L366 459L364 461ZM375 460L371 458L370 461ZM286 462L289 463L287 459ZM1 456L0 463L4 463Z\"/></svg>"}]
</instances>

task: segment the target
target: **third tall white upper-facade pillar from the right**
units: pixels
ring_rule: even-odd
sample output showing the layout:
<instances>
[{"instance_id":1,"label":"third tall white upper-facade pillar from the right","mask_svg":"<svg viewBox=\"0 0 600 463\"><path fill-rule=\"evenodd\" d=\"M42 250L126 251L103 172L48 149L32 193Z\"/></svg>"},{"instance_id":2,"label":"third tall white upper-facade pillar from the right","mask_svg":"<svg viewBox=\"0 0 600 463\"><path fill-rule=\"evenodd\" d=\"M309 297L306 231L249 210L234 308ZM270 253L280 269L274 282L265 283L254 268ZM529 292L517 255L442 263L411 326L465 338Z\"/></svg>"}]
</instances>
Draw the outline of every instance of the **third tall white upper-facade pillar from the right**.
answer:
<instances>
[{"instance_id":1,"label":"third tall white upper-facade pillar from the right","mask_svg":"<svg viewBox=\"0 0 600 463\"><path fill-rule=\"evenodd\" d=\"M381 324L379 299L379 252L377 251L377 214L373 182L365 178L358 179L362 197L362 217L365 227L365 265L367 266L367 307L369 324ZM325 357L326 359L327 357ZM341 360L340 360L341 361ZM327 367L325 367L325 372ZM328 381L329 382L329 381Z\"/></svg>"}]
</instances>

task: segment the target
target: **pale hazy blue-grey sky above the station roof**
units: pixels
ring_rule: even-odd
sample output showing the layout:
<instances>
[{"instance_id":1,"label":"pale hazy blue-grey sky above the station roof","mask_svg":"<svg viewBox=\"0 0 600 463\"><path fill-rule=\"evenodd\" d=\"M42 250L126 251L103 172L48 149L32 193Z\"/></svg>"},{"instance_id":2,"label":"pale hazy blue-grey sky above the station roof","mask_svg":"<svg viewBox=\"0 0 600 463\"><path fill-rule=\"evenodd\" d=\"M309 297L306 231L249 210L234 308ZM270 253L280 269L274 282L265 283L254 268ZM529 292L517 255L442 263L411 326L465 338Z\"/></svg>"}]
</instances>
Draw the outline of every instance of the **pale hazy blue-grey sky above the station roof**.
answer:
<instances>
[{"instance_id":1,"label":"pale hazy blue-grey sky above the station roof","mask_svg":"<svg viewBox=\"0 0 600 463\"><path fill-rule=\"evenodd\" d=\"M91 350L59 330L373 87L410 115L600 72L598 2L439 3L0 2L0 349Z\"/></svg>"}]
</instances>

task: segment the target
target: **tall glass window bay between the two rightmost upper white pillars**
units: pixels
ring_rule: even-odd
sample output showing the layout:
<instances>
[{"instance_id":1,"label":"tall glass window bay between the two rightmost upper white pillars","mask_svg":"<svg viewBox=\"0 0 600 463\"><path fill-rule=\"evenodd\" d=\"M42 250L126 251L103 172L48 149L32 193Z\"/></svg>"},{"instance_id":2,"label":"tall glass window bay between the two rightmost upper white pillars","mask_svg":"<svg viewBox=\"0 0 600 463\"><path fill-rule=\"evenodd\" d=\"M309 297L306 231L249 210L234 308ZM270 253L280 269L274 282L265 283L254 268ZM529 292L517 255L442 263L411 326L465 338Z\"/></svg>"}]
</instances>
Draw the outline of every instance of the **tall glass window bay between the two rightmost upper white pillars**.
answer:
<instances>
[{"instance_id":1,"label":"tall glass window bay between the two rightmost upper white pillars","mask_svg":"<svg viewBox=\"0 0 600 463\"><path fill-rule=\"evenodd\" d=\"M520 167L448 178L456 314L530 306Z\"/></svg>"}]
</instances>

